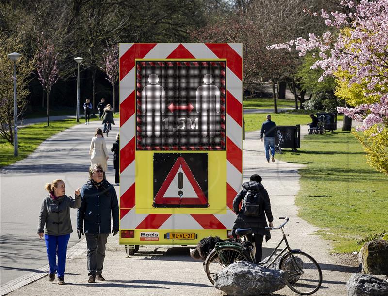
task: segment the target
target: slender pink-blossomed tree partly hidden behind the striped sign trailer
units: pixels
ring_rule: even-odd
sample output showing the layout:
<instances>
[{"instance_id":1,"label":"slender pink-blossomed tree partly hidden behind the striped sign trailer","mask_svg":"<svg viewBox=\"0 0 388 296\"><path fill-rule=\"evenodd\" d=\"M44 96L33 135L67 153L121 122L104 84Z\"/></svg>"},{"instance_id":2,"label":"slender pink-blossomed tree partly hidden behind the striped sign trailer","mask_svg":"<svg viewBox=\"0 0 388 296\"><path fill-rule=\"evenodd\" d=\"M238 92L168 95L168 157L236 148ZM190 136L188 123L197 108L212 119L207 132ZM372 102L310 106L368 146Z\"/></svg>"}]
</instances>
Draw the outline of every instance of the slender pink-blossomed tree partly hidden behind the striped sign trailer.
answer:
<instances>
[{"instance_id":1,"label":"slender pink-blossomed tree partly hidden behind the striped sign trailer","mask_svg":"<svg viewBox=\"0 0 388 296\"><path fill-rule=\"evenodd\" d=\"M116 112L115 85L118 79L118 45L105 49L102 54L103 63L100 67L106 74L107 80L111 82L113 88L113 112Z\"/></svg>"}]
</instances>

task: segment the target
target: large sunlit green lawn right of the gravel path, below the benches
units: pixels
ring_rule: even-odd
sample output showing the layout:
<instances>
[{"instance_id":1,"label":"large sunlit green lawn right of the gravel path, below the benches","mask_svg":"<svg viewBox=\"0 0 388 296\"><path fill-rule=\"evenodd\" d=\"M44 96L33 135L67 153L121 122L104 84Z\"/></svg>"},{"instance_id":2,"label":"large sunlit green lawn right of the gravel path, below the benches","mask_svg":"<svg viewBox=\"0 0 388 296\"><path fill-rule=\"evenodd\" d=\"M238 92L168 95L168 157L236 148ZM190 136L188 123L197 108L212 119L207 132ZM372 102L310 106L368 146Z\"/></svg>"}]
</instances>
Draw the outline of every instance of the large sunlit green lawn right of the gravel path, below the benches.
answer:
<instances>
[{"instance_id":1,"label":"large sunlit green lawn right of the gravel path, below the benches","mask_svg":"<svg viewBox=\"0 0 388 296\"><path fill-rule=\"evenodd\" d=\"M366 164L364 155L350 132L335 132L307 135L297 153L276 156L305 164L299 170L299 216L334 241L334 252L358 251L358 240L388 229L388 177Z\"/></svg>"}]
</instances>

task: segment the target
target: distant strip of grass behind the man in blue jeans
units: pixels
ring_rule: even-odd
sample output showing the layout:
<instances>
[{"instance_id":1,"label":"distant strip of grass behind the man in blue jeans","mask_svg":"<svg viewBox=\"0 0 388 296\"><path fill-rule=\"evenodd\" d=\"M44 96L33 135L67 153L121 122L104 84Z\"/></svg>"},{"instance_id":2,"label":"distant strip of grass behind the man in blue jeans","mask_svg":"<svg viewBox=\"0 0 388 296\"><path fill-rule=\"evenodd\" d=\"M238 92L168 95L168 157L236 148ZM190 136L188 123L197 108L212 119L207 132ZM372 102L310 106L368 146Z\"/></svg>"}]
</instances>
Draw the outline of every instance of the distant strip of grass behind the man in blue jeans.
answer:
<instances>
[{"instance_id":1,"label":"distant strip of grass behind the man in blue jeans","mask_svg":"<svg viewBox=\"0 0 388 296\"><path fill-rule=\"evenodd\" d=\"M308 114L299 114L299 113L270 113L272 115L272 121L276 125L306 125L311 122L311 118ZM244 114L245 120L245 131L252 132L261 129L261 124L267 120L267 114L265 113L250 113ZM343 120L343 115L337 116L337 121Z\"/></svg>"}]
</instances>

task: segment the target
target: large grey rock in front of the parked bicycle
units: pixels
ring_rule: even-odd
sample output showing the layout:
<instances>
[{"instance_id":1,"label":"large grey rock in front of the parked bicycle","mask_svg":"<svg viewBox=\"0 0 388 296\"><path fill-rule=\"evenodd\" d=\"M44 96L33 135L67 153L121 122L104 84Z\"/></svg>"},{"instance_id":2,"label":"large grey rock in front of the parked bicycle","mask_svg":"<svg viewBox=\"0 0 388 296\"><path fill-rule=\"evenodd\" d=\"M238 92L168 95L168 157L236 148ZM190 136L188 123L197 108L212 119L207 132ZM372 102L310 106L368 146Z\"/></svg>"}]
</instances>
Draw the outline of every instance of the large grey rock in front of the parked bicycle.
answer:
<instances>
[{"instance_id":1,"label":"large grey rock in front of the parked bicycle","mask_svg":"<svg viewBox=\"0 0 388 296\"><path fill-rule=\"evenodd\" d=\"M232 296L269 294L286 286L287 274L282 270L260 267L238 261L214 275L214 286Z\"/></svg>"}]
</instances>

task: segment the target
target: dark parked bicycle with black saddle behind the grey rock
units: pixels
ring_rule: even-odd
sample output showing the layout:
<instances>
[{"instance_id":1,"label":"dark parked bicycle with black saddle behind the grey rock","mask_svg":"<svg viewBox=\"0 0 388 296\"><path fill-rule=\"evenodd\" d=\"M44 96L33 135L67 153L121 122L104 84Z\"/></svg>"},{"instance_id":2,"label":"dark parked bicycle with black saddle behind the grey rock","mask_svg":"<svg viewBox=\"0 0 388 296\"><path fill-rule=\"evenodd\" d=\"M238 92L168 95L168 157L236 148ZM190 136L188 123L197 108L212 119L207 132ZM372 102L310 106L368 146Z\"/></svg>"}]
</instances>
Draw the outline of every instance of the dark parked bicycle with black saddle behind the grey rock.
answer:
<instances>
[{"instance_id":1,"label":"dark parked bicycle with black saddle behind the grey rock","mask_svg":"<svg viewBox=\"0 0 388 296\"><path fill-rule=\"evenodd\" d=\"M235 230L238 236L244 237L244 241L240 239L238 243L217 243L204 262L204 269L210 282L214 284L213 275L222 271L231 263L244 260L258 265L264 265L268 268L280 258L279 269L288 273L286 284L292 291L301 295L311 295L317 292L322 284L322 271L319 264L305 252L299 249L291 249L286 237L289 234L285 234L283 231L283 227L290 219L288 217L280 217L279 219L285 219L286 221L279 227L266 227L268 230L280 229L283 238L265 261L255 262L255 257L252 253L253 245L250 241L246 240L246 235L252 233L251 228L238 228ZM283 241L286 243L286 247L271 263L267 264ZM283 253L284 255L280 257Z\"/></svg>"}]
</instances>

